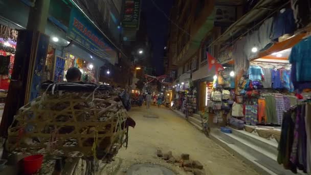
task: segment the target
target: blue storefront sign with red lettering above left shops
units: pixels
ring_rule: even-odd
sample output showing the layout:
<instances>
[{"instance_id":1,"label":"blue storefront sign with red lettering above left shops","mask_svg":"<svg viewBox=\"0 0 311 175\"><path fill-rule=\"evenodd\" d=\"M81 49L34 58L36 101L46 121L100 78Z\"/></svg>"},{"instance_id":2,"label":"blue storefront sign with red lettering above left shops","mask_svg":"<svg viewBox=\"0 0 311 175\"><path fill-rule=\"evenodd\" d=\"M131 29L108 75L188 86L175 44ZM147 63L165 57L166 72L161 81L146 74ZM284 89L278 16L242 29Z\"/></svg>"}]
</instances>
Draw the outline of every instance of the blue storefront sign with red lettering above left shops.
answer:
<instances>
[{"instance_id":1,"label":"blue storefront sign with red lettering above left shops","mask_svg":"<svg viewBox=\"0 0 311 175\"><path fill-rule=\"evenodd\" d=\"M76 8L71 10L67 37L99 57L110 59L108 52L112 49L104 41L102 33Z\"/></svg>"}]
</instances>

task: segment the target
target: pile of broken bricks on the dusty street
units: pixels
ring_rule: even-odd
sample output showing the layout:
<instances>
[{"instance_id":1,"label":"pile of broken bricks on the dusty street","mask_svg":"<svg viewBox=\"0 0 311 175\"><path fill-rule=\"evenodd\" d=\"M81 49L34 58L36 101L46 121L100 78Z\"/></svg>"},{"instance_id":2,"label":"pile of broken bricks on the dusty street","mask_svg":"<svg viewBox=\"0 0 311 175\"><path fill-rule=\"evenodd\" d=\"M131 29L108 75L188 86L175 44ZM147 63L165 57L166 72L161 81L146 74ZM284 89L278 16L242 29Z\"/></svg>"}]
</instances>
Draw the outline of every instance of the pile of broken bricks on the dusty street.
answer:
<instances>
[{"instance_id":1,"label":"pile of broken bricks on the dusty street","mask_svg":"<svg viewBox=\"0 0 311 175\"><path fill-rule=\"evenodd\" d=\"M204 175L203 165L199 161L190 160L189 154L182 154L181 157L174 157L172 151L163 154L161 149L157 150L157 156L162 158L167 163L174 164L177 167L183 168L189 174Z\"/></svg>"}]
</instances>

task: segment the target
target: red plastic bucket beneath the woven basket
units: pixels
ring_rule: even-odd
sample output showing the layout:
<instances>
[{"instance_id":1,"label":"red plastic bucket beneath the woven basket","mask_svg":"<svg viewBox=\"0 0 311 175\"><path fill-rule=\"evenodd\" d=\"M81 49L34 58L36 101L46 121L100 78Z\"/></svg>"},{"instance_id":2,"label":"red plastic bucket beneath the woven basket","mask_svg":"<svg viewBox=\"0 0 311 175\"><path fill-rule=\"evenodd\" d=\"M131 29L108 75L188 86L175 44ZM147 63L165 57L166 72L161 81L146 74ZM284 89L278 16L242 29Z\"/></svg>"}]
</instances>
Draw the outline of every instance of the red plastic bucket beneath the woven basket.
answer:
<instances>
[{"instance_id":1,"label":"red plastic bucket beneath the woven basket","mask_svg":"<svg viewBox=\"0 0 311 175\"><path fill-rule=\"evenodd\" d=\"M33 155L24 158L24 174L36 173L42 165L43 155Z\"/></svg>"}]
</instances>

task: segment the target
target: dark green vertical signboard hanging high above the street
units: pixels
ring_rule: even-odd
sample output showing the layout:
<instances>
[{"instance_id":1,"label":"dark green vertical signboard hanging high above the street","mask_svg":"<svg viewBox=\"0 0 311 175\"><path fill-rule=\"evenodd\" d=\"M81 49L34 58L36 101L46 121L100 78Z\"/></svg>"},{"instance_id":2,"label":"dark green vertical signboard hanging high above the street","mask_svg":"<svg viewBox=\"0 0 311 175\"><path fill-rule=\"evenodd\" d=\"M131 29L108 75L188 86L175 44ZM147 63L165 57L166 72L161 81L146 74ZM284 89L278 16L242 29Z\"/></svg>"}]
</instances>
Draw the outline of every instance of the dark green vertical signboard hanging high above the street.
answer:
<instances>
[{"instance_id":1,"label":"dark green vertical signboard hanging high above the street","mask_svg":"<svg viewBox=\"0 0 311 175\"><path fill-rule=\"evenodd\" d=\"M139 18L140 18L140 0L125 0L122 26L125 29L138 29Z\"/></svg>"}]
</instances>

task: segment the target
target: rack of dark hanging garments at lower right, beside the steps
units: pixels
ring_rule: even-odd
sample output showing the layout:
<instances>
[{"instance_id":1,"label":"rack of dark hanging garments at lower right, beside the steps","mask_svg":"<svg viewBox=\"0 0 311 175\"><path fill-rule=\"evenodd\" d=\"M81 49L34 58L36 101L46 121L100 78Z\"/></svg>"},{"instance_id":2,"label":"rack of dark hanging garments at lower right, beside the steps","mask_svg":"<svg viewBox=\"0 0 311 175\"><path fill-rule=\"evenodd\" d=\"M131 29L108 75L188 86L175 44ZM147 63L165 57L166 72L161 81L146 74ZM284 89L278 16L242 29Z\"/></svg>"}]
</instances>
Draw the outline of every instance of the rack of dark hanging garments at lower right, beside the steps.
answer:
<instances>
[{"instance_id":1,"label":"rack of dark hanging garments at lower right, beside the steps","mask_svg":"<svg viewBox=\"0 0 311 175\"><path fill-rule=\"evenodd\" d=\"M278 145L279 164L297 173L297 169L310 173L311 105L300 103L283 114Z\"/></svg>"}]
</instances>

